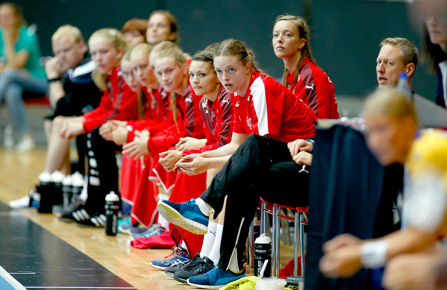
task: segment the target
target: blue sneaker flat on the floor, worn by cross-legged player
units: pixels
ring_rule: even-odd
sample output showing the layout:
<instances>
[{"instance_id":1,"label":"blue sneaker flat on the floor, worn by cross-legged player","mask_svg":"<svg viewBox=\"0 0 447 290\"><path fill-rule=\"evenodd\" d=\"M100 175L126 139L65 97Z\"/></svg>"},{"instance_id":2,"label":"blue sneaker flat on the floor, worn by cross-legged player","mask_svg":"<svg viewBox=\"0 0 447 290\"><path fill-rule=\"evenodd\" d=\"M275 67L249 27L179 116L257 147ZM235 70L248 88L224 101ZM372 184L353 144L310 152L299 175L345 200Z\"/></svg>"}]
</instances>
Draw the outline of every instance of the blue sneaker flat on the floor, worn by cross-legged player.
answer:
<instances>
[{"instance_id":1,"label":"blue sneaker flat on the floor, worn by cross-legged player","mask_svg":"<svg viewBox=\"0 0 447 290\"><path fill-rule=\"evenodd\" d=\"M233 273L230 270L225 271L219 269L219 266L215 266L211 271L205 274L188 278L186 282L202 289L219 289L228 283L243 277L245 277L245 270L240 271L240 273Z\"/></svg>"}]
</instances>

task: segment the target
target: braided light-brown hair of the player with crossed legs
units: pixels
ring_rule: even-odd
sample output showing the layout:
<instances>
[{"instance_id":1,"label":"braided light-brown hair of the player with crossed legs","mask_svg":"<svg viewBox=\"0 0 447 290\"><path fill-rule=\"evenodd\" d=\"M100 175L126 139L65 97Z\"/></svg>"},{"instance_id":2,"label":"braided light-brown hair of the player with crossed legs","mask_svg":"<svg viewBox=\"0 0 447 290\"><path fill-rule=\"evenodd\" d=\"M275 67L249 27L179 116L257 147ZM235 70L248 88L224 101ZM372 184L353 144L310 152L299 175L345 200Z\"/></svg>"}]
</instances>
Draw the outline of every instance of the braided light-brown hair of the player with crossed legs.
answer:
<instances>
[{"instance_id":1,"label":"braided light-brown hair of the player with crossed legs","mask_svg":"<svg viewBox=\"0 0 447 290\"><path fill-rule=\"evenodd\" d=\"M253 50L249 49L245 42L233 38L225 39L223 42L220 42L214 50L214 58L223 55L234 55L238 57L244 65L250 64L251 71L264 73L264 71L258 67L257 62L254 59Z\"/></svg>"}]
</instances>

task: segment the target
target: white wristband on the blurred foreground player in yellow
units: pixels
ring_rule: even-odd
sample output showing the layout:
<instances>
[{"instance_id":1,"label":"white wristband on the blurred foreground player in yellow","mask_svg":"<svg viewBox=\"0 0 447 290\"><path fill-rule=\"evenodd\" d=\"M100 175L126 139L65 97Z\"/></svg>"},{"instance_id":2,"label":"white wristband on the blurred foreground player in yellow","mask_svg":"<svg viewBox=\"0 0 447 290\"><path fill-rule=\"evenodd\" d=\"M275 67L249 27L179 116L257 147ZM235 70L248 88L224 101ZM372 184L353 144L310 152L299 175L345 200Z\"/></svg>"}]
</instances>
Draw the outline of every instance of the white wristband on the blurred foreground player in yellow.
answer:
<instances>
[{"instance_id":1,"label":"white wristband on the blurred foreground player in yellow","mask_svg":"<svg viewBox=\"0 0 447 290\"><path fill-rule=\"evenodd\" d=\"M368 242L360 249L360 261L367 269L383 267L387 262L388 241Z\"/></svg>"}]
</instances>

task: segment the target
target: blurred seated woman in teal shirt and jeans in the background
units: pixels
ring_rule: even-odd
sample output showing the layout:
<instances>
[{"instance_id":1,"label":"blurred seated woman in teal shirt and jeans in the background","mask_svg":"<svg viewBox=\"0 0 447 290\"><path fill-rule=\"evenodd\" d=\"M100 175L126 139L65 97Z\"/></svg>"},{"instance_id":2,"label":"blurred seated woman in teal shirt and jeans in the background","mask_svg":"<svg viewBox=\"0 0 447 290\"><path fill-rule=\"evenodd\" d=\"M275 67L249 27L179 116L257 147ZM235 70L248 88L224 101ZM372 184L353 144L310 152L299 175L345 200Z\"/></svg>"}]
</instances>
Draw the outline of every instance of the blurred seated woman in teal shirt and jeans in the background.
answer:
<instances>
[{"instance_id":1,"label":"blurred seated woman in teal shirt and jeans in the background","mask_svg":"<svg viewBox=\"0 0 447 290\"><path fill-rule=\"evenodd\" d=\"M34 147L26 119L23 92L43 95L48 88L45 71L39 64L41 53L35 29L25 24L19 5L0 5L0 101L5 99L9 113L21 134L16 147L19 151L28 151ZM11 138L5 134L5 145L13 145Z\"/></svg>"}]
</instances>

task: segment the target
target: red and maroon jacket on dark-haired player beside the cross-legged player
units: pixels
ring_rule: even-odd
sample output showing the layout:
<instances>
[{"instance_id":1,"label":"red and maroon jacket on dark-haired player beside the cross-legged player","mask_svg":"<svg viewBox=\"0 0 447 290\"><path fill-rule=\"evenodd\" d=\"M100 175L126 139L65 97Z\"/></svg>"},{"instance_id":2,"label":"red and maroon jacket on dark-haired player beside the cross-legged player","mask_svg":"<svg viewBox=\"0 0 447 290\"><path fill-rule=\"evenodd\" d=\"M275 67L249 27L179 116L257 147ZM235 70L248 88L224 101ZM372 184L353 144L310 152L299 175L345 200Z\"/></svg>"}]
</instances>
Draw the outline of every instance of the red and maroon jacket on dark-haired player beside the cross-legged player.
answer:
<instances>
[{"instance_id":1,"label":"red and maroon jacket on dark-haired player beside the cross-legged player","mask_svg":"<svg viewBox=\"0 0 447 290\"><path fill-rule=\"evenodd\" d=\"M234 110L231 105L231 96L223 85L220 85L216 100L214 102L207 100L207 104L205 104L202 99L199 109L202 113L203 131L207 143L201 148L184 150L183 156L214 150L231 142Z\"/></svg>"}]
</instances>

